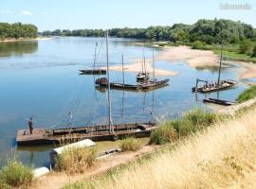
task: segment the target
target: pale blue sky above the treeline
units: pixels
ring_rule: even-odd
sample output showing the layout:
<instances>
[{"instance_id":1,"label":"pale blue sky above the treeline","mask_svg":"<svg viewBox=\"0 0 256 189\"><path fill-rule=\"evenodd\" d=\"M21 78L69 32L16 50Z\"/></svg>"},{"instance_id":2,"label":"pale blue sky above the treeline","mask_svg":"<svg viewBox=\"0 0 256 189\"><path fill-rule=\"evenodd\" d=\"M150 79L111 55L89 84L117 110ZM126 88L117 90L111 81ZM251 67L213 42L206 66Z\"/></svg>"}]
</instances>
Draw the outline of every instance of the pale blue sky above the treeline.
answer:
<instances>
[{"instance_id":1,"label":"pale blue sky above the treeline","mask_svg":"<svg viewBox=\"0 0 256 189\"><path fill-rule=\"evenodd\" d=\"M220 9L220 4L250 9ZM226 18L256 27L255 0L0 0L0 22L29 23L39 31L56 28L112 28L193 24Z\"/></svg>"}]
</instances>

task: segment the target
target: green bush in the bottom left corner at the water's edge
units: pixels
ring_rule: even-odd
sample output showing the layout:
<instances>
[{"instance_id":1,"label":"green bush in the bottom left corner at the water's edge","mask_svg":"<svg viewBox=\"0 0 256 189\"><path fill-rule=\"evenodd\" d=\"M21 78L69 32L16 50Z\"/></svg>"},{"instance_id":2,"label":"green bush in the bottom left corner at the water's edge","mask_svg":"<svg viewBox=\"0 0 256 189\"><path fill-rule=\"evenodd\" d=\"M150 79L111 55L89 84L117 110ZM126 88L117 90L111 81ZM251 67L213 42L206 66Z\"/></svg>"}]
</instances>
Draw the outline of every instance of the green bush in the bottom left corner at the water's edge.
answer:
<instances>
[{"instance_id":1,"label":"green bush in the bottom left corner at the water's edge","mask_svg":"<svg viewBox=\"0 0 256 189\"><path fill-rule=\"evenodd\" d=\"M10 159L0 172L1 188L20 187L29 185L33 179L32 167L16 159Z\"/></svg>"}]
</instances>

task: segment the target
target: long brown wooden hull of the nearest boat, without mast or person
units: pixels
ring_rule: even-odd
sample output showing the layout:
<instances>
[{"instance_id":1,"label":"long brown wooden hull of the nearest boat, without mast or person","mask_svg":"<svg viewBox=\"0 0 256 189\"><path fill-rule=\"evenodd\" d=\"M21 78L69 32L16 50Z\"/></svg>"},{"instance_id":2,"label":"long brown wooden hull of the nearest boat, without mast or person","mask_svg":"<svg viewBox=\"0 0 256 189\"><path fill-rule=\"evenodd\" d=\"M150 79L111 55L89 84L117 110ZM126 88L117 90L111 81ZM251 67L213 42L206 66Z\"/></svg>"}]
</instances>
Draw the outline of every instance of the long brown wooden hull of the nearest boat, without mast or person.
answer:
<instances>
[{"instance_id":1,"label":"long brown wooden hull of the nearest boat, without mast or person","mask_svg":"<svg viewBox=\"0 0 256 189\"><path fill-rule=\"evenodd\" d=\"M28 129L18 130L16 142L18 146L33 146L46 144L64 144L91 139L93 141L113 141L125 137L148 137L155 123L135 123L112 125L110 132L109 125L91 126L82 128L67 129L34 129L30 134Z\"/></svg>"}]
</instances>

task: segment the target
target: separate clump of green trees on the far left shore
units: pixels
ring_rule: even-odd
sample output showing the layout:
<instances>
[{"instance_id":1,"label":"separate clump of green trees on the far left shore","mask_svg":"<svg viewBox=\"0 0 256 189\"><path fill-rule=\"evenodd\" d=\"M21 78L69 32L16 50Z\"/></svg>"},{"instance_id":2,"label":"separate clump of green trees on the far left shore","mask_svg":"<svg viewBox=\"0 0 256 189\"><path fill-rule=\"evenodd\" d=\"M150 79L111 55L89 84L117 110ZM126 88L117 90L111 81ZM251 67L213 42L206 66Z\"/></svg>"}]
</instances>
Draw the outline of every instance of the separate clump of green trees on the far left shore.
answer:
<instances>
[{"instance_id":1,"label":"separate clump of green trees on the far left shore","mask_svg":"<svg viewBox=\"0 0 256 189\"><path fill-rule=\"evenodd\" d=\"M0 40L6 39L32 39L38 34L37 27L34 25L23 25L21 23L0 23Z\"/></svg>"}]
</instances>

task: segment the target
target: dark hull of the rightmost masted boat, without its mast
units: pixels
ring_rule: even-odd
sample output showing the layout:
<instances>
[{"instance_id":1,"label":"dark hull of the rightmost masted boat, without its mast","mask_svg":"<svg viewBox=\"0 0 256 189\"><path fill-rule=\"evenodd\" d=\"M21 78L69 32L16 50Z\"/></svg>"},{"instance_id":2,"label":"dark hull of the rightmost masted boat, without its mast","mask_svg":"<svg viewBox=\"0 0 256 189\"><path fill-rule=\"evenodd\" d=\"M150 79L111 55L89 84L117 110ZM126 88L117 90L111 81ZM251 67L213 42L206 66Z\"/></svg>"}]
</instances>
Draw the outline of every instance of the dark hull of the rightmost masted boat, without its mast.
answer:
<instances>
[{"instance_id":1,"label":"dark hull of the rightmost masted boat, without its mast","mask_svg":"<svg viewBox=\"0 0 256 189\"><path fill-rule=\"evenodd\" d=\"M192 88L192 93L210 93L210 92L215 92L215 91L221 91L221 90L227 90L233 86L235 86L238 82L235 80L220 80L219 83L206 83L205 85L202 86L196 86Z\"/></svg>"}]
</instances>

